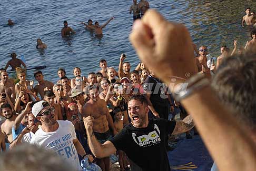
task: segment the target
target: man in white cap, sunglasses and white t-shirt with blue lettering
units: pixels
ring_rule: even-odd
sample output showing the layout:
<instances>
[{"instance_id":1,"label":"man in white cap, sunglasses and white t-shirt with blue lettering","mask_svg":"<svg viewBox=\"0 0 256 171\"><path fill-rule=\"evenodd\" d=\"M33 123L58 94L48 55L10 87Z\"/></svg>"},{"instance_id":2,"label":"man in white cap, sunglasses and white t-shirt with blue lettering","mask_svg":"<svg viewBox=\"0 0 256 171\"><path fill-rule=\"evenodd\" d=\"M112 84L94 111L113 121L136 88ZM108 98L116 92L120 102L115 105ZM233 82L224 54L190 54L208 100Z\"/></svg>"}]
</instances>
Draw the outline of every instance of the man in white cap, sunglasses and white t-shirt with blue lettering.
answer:
<instances>
[{"instance_id":1,"label":"man in white cap, sunglasses and white t-shirt with blue lettering","mask_svg":"<svg viewBox=\"0 0 256 171\"><path fill-rule=\"evenodd\" d=\"M78 154L88 157L83 146L77 140L74 125L67 120L56 120L54 116L55 108L48 102L41 100L32 107L32 114L35 116L35 122L41 122L42 126L37 130L31 144L43 147L46 150L54 150L58 155L68 161L75 170L82 170Z\"/></svg>"}]
</instances>

